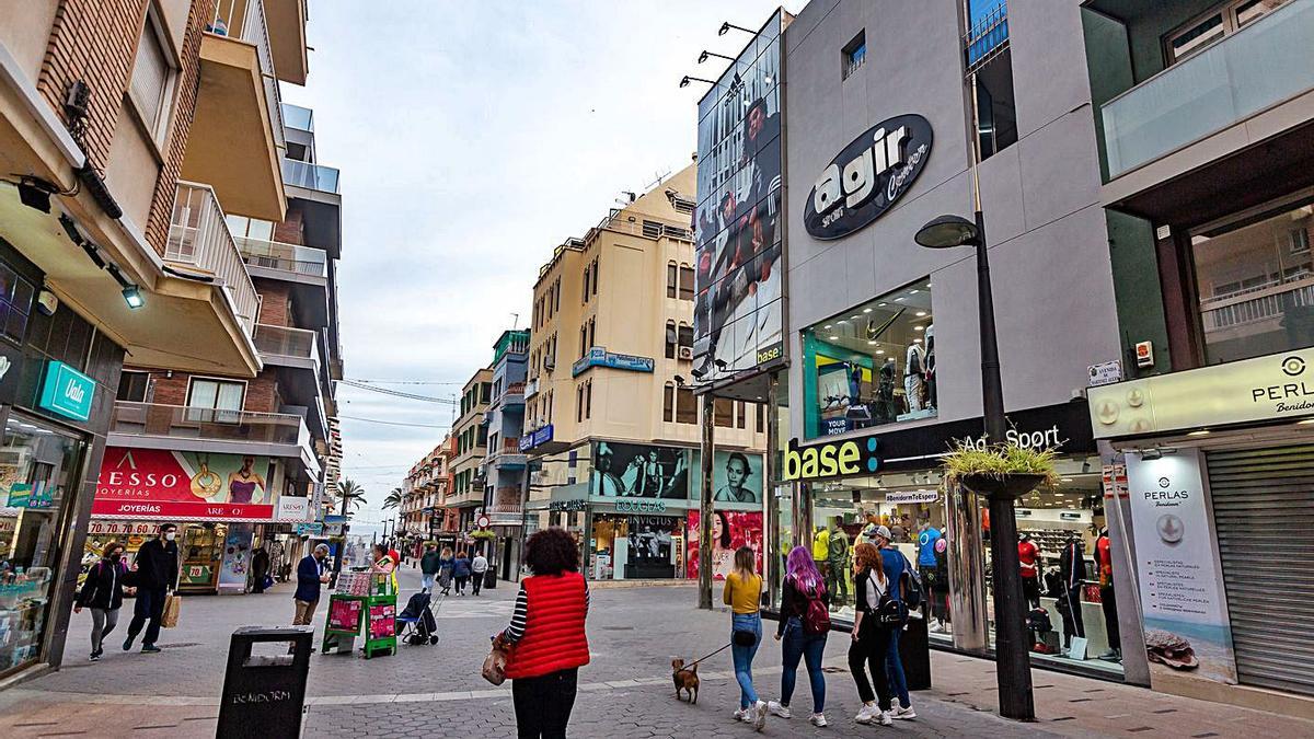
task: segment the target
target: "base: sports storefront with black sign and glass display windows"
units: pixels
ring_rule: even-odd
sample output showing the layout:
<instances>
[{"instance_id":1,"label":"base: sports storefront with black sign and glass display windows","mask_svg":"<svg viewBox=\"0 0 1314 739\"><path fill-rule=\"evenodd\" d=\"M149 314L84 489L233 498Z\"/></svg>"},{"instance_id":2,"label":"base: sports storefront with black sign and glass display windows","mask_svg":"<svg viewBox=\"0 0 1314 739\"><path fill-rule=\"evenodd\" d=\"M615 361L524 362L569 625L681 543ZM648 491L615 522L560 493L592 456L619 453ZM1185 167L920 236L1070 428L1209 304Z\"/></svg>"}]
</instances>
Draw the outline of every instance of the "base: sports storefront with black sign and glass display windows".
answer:
<instances>
[{"instance_id":1,"label":"base: sports storefront with black sign and glass display windows","mask_svg":"<svg viewBox=\"0 0 1314 739\"><path fill-rule=\"evenodd\" d=\"M1121 677L1116 596L1109 558L1101 556L1112 543L1102 465L1087 406L1045 406L1009 413L1008 419L1009 443L1059 452L1059 485L1029 493L1017 504L1024 596L1037 609L1033 661ZM825 575L836 622L853 622L853 547L866 540L862 533L867 526L880 525L890 527L894 546L921 577L932 643L966 651L993 647L986 501L946 493L937 464L957 441L983 443L980 421L903 430L887 426L829 442L790 442L782 472L799 488L800 526L811 529L812 558ZM795 522L788 496L775 502L779 530L769 540L771 556L783 567ZM773 598L779 602L779 593ZM979 626L954 623L970 610L986 614L986 621ZM1075 652L1074 644L1079 647Z\"/></svg>"}]
</instances>

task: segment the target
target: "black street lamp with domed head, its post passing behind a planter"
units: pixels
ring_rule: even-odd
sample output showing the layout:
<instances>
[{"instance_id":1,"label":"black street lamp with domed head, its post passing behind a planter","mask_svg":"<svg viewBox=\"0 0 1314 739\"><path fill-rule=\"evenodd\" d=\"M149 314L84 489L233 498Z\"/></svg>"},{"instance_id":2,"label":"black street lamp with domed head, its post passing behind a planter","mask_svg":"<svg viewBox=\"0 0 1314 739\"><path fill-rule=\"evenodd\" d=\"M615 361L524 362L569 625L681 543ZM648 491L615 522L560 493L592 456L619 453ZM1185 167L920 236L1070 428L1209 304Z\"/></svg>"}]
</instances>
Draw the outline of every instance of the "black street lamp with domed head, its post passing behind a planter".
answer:
<instances>
[{"instance_id":1,"label":"black street lamp with domed head, its post passing behind a planter","mask_svg":"<svg viewBox=\"0 0 1314 739\"><path fill-rule=\"evenodd\" d=\"M999 341L995 331L995 300L989 287L989 256L986 247L986 218L976 208L975 222L959 216L941 216L913 237L928 249L976 247L976 301L982 342L982 405L986 438L989 443L1007 439L1004 384L999 373ZM1031 660L1028 654L1026 610L1017 561L1017 519L1013 497L989 496L991 561L995 572L995 677L999 684L999 713L1005 718L1031 721Z\"/></svg>"}]
</instances>

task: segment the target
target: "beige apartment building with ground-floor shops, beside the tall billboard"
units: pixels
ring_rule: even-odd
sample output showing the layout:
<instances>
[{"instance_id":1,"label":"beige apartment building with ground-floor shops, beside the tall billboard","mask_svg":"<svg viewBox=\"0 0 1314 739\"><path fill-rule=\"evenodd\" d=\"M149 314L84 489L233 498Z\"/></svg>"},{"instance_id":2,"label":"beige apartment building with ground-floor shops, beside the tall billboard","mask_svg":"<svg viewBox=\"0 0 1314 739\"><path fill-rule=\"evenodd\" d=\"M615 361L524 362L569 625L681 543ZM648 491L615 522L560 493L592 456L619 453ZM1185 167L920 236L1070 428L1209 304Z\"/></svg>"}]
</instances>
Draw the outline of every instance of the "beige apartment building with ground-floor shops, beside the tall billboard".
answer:
<instances>
[{"instance_id":1,"label":"beige apartment building with ground-floor shops, beside the tall billboard","mask_svg":"<svg viewBox=\"0 0 1314 739\"><path fill-rule=\"evenodd\" d=\"M593 542L591 579L698 573L694 175L631 196L556 247L533 288L527 521ZM728 569L733 547L761 544L765 414L719 400L715 423L712 565Z\"/></svg>"}]
</instances>

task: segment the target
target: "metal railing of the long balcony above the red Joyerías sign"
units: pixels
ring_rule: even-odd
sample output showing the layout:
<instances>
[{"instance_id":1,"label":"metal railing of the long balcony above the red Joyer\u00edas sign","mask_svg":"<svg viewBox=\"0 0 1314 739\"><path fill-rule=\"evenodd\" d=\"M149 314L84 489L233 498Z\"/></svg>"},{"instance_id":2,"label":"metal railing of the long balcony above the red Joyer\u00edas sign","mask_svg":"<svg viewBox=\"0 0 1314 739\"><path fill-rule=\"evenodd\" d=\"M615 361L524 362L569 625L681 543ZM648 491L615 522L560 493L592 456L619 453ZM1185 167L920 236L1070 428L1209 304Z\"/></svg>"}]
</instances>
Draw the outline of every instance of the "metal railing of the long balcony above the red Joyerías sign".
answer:
<instances>
[{"instance_id":1,"label":"metal railing of the long balcony above the red Joyer\u00edas sign","mask_svg":"<svg viewBox=\"0 0 1314 739\"><path fill-rule=\"evenodd\" d=\"M114 402L109 433L268 444L309 444L310 441L305 418L292 413L254 413L129 401Z\"/></svg>"}]
</instances>

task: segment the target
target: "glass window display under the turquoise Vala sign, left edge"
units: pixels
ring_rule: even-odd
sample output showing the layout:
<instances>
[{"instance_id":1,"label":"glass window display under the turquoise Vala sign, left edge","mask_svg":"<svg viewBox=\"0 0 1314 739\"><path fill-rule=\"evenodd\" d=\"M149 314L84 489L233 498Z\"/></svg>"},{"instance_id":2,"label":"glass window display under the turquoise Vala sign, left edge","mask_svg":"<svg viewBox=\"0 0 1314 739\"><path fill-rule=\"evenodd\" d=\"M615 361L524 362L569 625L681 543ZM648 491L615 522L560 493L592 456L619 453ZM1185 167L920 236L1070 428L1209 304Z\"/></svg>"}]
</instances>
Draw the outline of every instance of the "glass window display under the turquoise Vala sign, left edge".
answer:
<instances>
[{"instance_id":1,"label":"glass window display under the turquoise Vala sign, left edge","mask_svg":"<svg viewBox=\"0 0 1314 739\"><path fill-rule=\"evenodd\" d=\"M85 443L12 412L0 448L0 675L38 659Z\"/></svg>"}]
</instances>

